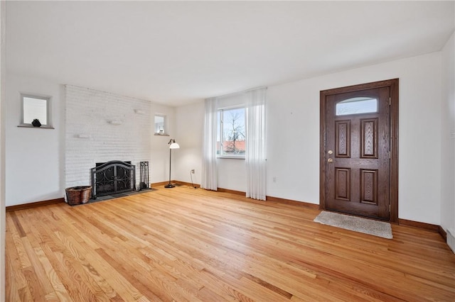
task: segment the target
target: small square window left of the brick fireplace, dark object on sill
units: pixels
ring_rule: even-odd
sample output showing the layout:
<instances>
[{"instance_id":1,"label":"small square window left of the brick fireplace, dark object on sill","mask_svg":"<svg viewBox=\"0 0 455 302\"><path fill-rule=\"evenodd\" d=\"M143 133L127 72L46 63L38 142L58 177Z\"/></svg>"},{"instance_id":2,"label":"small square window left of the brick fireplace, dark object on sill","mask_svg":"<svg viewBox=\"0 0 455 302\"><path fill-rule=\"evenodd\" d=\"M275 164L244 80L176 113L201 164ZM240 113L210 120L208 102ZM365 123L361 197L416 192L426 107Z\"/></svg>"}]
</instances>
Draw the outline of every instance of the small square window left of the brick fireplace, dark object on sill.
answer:
<instances>
[{"instance_id":1,"label":"small square window left of the brick fireplace, dark object on sill","mask_svg":"<svg viewBox=\"0 0 455 302\"><path fill-rule=\"evenodd\" d=\"M32 126L38 120L43 128L51 128L49 106L50 97L21 94L22 116L21 125Z\"/></svg>"}]
</instances>

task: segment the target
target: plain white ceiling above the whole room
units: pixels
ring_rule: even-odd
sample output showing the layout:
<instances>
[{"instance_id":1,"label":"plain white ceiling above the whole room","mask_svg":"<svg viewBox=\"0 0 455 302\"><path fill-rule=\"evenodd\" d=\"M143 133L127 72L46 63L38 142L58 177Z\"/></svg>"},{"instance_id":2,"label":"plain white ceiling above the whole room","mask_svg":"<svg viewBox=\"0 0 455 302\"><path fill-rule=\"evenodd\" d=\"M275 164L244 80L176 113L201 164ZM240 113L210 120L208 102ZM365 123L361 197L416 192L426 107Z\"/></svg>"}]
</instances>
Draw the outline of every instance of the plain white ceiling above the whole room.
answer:
<instances>
[{"instance_id":1,"label":"plain white ceiling above the whole room","mask_svg":"<svg viewBox=\"0 0 455 302\"><path fill-rule=\"evenodd\" d=\"M7 1L10 74L170 106L439 51L454 1Z\"/></svg>"}]
</instances>

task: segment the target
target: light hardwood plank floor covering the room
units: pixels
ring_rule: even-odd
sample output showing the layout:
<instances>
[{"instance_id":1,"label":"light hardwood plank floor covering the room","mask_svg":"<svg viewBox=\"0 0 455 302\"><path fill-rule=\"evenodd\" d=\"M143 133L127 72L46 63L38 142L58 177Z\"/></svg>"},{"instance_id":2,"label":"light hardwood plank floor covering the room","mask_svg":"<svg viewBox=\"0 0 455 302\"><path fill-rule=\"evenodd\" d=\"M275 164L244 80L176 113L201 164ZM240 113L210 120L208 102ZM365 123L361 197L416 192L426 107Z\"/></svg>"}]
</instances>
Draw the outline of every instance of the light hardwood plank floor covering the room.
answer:
<instances>
[{"instance_id":1,"label":"light hardwood plank floor covering the room","mask_svg":"<svg viewBox=\"0 0 455 302\"><path fill-rule=\"evenodd\" d=\"M455 301L439 234L188 187L6 213L7 301Z\"/></svg>"}]
</instances>

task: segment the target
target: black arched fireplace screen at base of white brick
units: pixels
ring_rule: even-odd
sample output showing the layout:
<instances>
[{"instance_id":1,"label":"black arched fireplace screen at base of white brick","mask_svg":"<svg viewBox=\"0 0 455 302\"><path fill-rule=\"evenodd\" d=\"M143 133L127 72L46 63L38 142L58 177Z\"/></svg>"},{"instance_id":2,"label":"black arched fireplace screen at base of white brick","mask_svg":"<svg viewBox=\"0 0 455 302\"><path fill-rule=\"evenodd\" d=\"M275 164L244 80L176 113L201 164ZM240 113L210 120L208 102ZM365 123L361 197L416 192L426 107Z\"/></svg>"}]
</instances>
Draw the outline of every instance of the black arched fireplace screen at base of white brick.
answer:
<instances>
[{"instance_id":1,"label":"black arched fireplace screen at base of white brick","mask_svg":"<svg viewBox=\"0 0 455 302\"><path fill-rule=\"evenodd\" d=\"M97 196L134 191L136 188L136 166L131 162L100 162L90 169L90 174L93 199Z\"/></svg>"}]
</instances>

